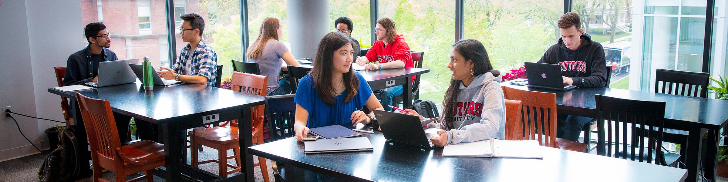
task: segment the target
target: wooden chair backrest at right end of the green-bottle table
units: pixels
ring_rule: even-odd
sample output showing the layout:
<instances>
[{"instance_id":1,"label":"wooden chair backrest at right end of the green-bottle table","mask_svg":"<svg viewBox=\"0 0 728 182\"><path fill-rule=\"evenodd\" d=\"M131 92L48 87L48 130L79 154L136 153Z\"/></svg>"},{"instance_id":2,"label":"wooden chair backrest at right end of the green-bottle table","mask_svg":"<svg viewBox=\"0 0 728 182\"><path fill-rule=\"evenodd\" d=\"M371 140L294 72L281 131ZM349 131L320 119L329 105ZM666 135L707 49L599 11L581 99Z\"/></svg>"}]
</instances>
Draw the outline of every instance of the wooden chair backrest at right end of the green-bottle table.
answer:
<instances>
[{"instance_id":1,"label":"wooden chair backrest at right end of the green-bottle table","mask_svg":"<svg viewBox=\"0 0 728 182\"><path fill-rule=\"evenodd\" d=\"M268 76L233 72L230 90L265 96L267 85ZM263 116L265 108L265 105L253 106L251 108L250 114L253 116L253 126L257 126L259 122L263 122L260 117ZM237 127L237 120L232 122L231 125Z\"/></svg>"}]
</instances>

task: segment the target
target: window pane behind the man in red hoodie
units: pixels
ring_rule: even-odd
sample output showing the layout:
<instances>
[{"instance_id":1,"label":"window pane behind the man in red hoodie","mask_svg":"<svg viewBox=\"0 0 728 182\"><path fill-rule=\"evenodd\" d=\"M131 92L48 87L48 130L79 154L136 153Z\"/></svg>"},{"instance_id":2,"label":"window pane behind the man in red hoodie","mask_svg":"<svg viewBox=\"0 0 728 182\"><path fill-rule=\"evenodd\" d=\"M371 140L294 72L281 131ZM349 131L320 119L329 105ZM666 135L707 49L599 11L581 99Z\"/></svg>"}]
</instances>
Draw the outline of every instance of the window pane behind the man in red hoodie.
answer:
<instances>
[{"instance_id":1,"label":"window pane behind the man in red hoodie","mask_svg":"<svg viewBox=\"0 0 728 182\"><path fill-rule=\"evenodd\" d=\"M411 50L424 52L422 67L430 73L420 79L420 98L439 103L451 79L447 64L455 41L454 1L381 0L378 11L379 18L395 20Z\"/></svg>"}]
</instances>

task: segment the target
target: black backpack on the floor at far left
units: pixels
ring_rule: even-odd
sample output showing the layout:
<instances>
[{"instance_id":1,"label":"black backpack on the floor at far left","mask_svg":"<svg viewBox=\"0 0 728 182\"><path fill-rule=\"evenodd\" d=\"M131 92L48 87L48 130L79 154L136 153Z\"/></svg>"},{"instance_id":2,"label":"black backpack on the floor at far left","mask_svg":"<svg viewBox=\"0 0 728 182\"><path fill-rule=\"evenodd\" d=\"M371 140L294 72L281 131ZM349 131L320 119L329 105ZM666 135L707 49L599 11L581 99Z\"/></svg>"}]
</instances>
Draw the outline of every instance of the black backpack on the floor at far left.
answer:
<instances>
[{"instance_id":1,"label":"black backpack on the floor at far left","mask_svg":"<svg viewBox=\"0 0 728 182\"><path fill-rule=\"evenodd\" d=\"M41 182L76 181L79 179L81 165L76 161L78 140L74 135L74 127L66 127L58 135L60 146L51 151L38 171Z\"/></svg>"}]
</instances>

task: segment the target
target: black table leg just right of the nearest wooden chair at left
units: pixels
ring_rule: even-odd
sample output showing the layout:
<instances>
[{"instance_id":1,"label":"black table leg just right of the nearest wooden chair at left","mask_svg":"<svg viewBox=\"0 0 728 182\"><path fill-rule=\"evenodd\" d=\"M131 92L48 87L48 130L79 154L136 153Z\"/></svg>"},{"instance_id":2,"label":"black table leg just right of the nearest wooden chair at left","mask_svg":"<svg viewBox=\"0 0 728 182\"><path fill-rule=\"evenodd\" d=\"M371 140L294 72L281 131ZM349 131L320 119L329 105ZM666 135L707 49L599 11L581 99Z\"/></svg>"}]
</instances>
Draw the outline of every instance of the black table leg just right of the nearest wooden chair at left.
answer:
<instances>
[{"instance_id":1,"label":"black table leg just right of the nearest wooden chair at left","mask_svg":"<svg viewBox=\"0 0 728 182\"><path fill-rule=\"evenodd\" d=\"M159 124L162 127L162 142L165 143L165 167L167 173L165 173L165 179L167 181L181 181L182 167L180 166L180 159L182 149L180 146L183 145L179 131L173 128L172 124L165 123Z\"/></svg>"}]
</instances>

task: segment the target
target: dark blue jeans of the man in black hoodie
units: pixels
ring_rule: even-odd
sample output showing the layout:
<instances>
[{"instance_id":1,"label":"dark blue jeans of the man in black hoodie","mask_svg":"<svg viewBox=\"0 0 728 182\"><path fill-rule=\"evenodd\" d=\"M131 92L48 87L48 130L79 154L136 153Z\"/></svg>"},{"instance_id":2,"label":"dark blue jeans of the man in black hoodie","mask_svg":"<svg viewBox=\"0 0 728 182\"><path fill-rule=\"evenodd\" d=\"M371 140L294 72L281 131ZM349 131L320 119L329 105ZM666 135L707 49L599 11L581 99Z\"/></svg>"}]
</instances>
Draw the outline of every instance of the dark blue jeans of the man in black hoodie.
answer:
<instances>
[{"instance_id":1,"label":"dark blue jeans of the man in black hoodie","mask_svg":"<svg viewBox=\"0 0 728 182\"><path fill-rule=\"evenodd\" d=\"M579 141L579 135L582 133L584 124L591 122L593 118L584 116L574 116L568 114L558 114L556 116L556 137L564 138L569 141ZM590 135L586 133L585 135Z\"/></svg>"}]
</instances>

